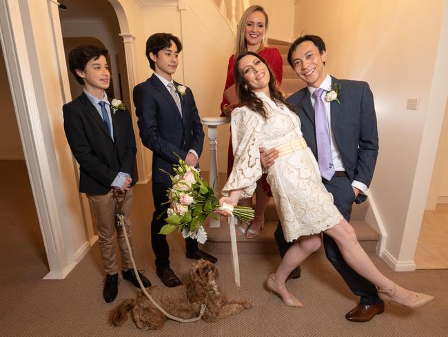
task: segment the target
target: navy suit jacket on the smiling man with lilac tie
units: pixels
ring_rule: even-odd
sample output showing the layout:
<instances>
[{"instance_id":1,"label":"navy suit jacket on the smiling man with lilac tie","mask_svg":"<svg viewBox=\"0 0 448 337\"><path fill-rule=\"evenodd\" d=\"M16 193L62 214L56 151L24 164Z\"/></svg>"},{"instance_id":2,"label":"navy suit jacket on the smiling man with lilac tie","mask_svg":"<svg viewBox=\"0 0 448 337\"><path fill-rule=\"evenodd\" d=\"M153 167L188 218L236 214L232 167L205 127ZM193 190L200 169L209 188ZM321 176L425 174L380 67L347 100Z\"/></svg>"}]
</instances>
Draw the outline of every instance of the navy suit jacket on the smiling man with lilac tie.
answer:
<instances>
[{"instance_id":1,"label":"navy suit jacket on the smiling man with lilac tie","mask_svg":"<svg viewBox=\"0 0 448 337\"><path fill-rule=\"evenodd\" d=\"M332 86L340 85L340 105L330 102L330 114L334 139L350 181L370 185L376 157L378 157L378 131L374 96L369 84L332 77ZM289 96L287 101L294 105L301 119L303 137L317 159L316 128L314 108L308 88ZM362 202L363 195L359 195ZM364 200L363 200L364 199Z\"/></svg>"}]
</instances>

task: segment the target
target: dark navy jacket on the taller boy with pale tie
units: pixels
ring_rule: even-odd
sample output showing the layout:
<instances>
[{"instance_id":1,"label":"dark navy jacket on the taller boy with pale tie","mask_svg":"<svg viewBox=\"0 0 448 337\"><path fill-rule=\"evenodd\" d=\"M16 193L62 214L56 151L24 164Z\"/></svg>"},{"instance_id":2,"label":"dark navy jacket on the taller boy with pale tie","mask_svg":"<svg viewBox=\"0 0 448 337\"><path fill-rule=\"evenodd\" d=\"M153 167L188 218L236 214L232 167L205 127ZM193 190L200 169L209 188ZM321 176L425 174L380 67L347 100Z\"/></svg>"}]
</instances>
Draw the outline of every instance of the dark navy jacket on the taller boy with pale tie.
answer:
<instances>
[{"instance_id":1,"label":"dark navy jacket on the taller boy with pale tie","mask_svg":"<svg viewBox=\"0 0 448 337\"><path fill-rule=\"evenodd\" d=\"M176 83L179 86L179 83ZM192 90L181 96L182 116L173 97L162 81L152 75L134 88L134 105L139 117L141 142L153 152L152 181L170 183L170 177L160 171L173 173L173 164L179 162L190 149L201 156L204 131L194 102Z\"/></svg>"}]
</instances>

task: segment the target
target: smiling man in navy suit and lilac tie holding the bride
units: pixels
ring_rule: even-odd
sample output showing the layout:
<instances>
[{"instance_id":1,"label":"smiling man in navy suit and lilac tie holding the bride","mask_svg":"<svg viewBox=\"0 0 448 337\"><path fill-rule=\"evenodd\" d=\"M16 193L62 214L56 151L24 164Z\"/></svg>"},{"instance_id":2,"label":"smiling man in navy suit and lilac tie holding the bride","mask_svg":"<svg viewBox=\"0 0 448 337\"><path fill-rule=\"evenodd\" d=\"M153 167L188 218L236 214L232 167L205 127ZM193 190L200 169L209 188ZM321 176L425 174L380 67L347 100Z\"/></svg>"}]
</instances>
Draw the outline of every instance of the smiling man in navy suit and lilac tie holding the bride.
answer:
<instances>
[{"instance_id":1,"label":"smiling man in navy suit and lilac tie holding the bride","mask_svg":"<svg viewBox=\"0 0 448 337\"><path fill-rule=\"evenodd\" d=\"M368 186L374 174L378 156L378 131L374 97L369 84L363 81L336 79L325 71L327 58L323 39L305 35L293 42L288 52L288 62L307 88L288 97L301 119L303 137L319 162L323 184L334 197L334 204L349 221L353 202L367 198ZM322 89L322 90L319 90ZM322 91L324 98L327 148L322 148L323 131L318 125L315 111L315 93ZM314 94L314 95L313 95ZM318 117L319 121L321 116ZM322 155L329 153L329 165L323 167ZM262 153L263 166L270 166L278 155L275 149ZM325 174L323 174L325 171ZM329 175L328 172L330 171ZM276 242L285 254L290 243L285 241L281 224L275 232ZM323 233L325 253L349 288L360 296L360 303L345 316L352 322L367 322L384 310L376 287L354 271L343 259L336 242Z\"/></svg>"}]
</instances>

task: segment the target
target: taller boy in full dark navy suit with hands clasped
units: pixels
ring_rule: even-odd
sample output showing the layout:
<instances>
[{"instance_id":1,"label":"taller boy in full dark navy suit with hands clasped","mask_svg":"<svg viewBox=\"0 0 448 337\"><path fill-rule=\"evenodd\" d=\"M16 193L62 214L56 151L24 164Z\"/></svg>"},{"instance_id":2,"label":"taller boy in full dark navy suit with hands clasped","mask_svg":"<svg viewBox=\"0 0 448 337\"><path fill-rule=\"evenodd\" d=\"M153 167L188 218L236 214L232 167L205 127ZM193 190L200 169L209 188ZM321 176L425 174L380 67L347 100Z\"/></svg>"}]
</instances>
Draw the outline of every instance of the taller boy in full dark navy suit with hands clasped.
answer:
<instances>
[{"instance_id":1,"label":"taller boy in full dark navy suit with hands clasped","mask_svg":"<svg viewBox=\"0 0 448 337\"><path fill-rule=\"evenodd\" d=\"M155 211L151 222L151 244L156 256L157 275L167 287L182 283L170 268L170 248L166 236L159 234L165 221L157 217L167 211L166 191L172 187L170 177L161 169L174 173L173 164L179 162L176 155L187 165L197 166L204 140L192 90L172 79L181 50L181 41L174 35L151 35L146 41L146 57L154 74L134 88L141 142L153 152L152 195ZM185 244L187 258L216 262L214 256L198 249L196 240L186 238Z\"/></svg>"}]
</instances>

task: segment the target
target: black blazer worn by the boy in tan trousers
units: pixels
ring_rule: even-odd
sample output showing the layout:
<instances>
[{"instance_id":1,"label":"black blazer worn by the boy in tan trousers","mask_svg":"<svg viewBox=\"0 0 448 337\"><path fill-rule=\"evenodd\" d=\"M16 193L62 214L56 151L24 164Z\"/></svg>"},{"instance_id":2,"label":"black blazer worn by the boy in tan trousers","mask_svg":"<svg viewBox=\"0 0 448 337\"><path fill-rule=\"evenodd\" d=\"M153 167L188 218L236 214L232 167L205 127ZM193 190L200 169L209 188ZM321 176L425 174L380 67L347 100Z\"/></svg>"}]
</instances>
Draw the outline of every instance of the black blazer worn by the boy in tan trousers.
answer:
<instances>
[{"instance_id":1,"label":"black blazer worn by the boy in tan trousers","mask_svg":"<svg viewBox=\"0 0 448 337\"><path fill-rule=\"evenodd\" d=\"M111 113L114 142L98 110L85 93L64 104L62 110L65 136L79 163L80 192L105 194L110 191L110 184L119 172L132 177L137 150L128 110Z\"/></svg>"}]
</instances>

